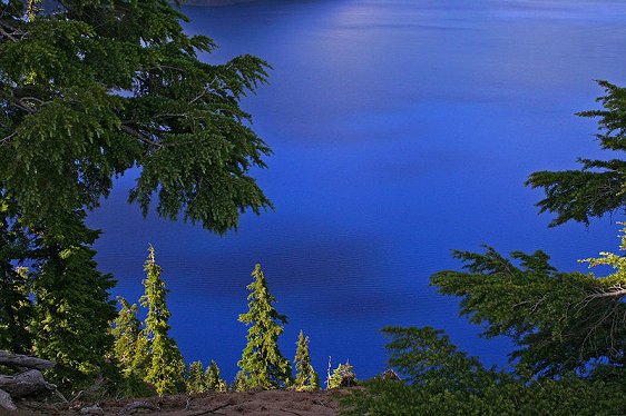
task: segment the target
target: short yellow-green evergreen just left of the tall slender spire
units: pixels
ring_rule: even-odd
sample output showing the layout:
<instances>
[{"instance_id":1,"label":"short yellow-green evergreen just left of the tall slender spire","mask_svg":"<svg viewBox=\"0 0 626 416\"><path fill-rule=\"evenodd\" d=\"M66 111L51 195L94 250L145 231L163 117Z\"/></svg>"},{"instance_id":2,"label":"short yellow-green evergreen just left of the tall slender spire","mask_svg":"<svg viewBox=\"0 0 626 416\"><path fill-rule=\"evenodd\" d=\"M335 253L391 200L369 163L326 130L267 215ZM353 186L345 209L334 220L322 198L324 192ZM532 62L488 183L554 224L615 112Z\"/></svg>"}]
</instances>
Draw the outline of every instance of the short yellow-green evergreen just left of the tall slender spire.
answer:
<instances>
[{"instance_id":1,"label":"short yellow-green evergreen just left of the tall slender spire","mask_svg":"<svg viewBox=\"0 0 626 416\"><path fill-rule=\"evenodd\" d=\"M117 297L120 310L114 320L114 356L125 379L124 393L128 396L146 396L151 392L144 382L148 368L148 340L137 318L137 304L128 304Z\"/></svg>"}]
</instances>

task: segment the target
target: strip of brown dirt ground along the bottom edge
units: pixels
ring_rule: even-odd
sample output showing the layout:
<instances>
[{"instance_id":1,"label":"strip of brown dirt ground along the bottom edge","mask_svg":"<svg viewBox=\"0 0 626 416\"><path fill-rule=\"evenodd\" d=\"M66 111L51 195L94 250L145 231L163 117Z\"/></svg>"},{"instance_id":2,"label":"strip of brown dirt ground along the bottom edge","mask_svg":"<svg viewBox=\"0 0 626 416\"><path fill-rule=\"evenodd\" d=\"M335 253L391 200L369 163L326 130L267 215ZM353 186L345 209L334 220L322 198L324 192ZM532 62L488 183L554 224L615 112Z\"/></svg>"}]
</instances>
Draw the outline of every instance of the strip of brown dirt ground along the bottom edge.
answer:
<instances>
[{"instance_id":1,"label":"strip of brown dirt ground along the bottom edge","mask_svg":"<svg viewBox=\"0 0 626 416\"><path fill-rule=\"evenodd\" d=\"M203 393L147 399L105 400L72 404L17 402L18 412L0 415L258 415L258 416L331 416L339 415L338 398L346 390L288 392L262 390L242 393ZM90 413L86 410L94 407Z\"/></svg>"}]
</instances>

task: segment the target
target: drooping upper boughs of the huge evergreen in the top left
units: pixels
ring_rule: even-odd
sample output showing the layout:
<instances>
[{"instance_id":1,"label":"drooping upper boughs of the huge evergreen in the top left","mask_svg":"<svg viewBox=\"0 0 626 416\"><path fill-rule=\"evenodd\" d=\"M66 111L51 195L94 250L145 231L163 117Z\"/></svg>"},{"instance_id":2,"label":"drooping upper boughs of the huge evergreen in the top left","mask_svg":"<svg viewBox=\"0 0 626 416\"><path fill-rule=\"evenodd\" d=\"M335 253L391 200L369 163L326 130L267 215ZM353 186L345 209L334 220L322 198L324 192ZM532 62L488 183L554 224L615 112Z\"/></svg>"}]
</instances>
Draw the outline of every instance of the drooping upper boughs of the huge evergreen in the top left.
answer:
<instances>
[{"instance_id":1,"label":"drooping upper boughs of the huge evergreen in the top left","mask_svg":"<svg viewBox=\"0 0 626 416\"><path fill-rule=\"evenodd\" d=\"M59 211L95 208L135 166L144 212L156 196L163 217L222 234L271 207L248 175L271 150L239 108L266 62L200 62L214 42L166 0L53 9L0 3L0 189L28 224L62 232Z\"/></svg>"}]
</instances>

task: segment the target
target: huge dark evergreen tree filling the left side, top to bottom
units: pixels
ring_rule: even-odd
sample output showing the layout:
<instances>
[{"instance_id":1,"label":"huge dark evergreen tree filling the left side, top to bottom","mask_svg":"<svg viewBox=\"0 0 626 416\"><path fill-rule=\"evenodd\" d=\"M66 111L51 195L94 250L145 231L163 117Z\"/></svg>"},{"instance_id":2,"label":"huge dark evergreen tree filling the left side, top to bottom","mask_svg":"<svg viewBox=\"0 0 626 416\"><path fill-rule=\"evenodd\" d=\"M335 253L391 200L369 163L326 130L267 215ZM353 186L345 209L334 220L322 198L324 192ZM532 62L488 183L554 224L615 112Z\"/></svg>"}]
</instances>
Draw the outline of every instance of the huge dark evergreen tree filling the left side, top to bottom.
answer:
<instances>
[{"instance_id":1,"label":"huge dark evergreen tree filling the left side, top to bottom","mask_svg":"<svg viewBox=\"0 0 626 416\"><path fill-rule=\"evenodd\" d=\"M159 216L223 234L244 211L271 208L250 175L271 149L239 108L268 66L251 56L200 62L215 44L184 32L178 2L0 2L0 206L10 202L10 224L37 236L23 258L35 265L30 334L69 386L111 353L104 323L115 313L113 279L96 269L98 232L85 227L84 214L135 167L129 199L144 214L157 199ZM30 281L12 270L25 256L0 250L0 343L27 351ZM157 350L172 344L162 338Z\"/></svg>"}]
</instances>

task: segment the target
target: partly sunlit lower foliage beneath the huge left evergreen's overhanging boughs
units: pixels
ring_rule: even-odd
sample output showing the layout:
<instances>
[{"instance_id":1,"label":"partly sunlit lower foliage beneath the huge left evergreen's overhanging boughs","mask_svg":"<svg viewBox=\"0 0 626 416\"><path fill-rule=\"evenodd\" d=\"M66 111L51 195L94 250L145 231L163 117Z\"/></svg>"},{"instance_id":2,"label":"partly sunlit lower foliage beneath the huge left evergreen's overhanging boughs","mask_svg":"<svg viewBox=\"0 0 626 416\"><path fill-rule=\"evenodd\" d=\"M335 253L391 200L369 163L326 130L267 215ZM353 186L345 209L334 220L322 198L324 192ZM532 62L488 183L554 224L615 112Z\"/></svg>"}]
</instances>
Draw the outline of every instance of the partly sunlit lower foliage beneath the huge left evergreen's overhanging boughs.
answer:
<instances>
[{"instance_id":1,"label":"partly sunlit lower foliage beneath the huge left evergreen's overhanging boughs","mask_svg":"<svg viewBox=\"0 0 626 416\"><path fill-rule=\"evenodd\" d=\"M49 373L66 389L101 374L116 316L108 293L115 281L96 269L90 249L98 232L85 228L81 216L62 238L42 234L45 252L33 267L35 353L57 361Z\"/></svg>"}]
</instances>

